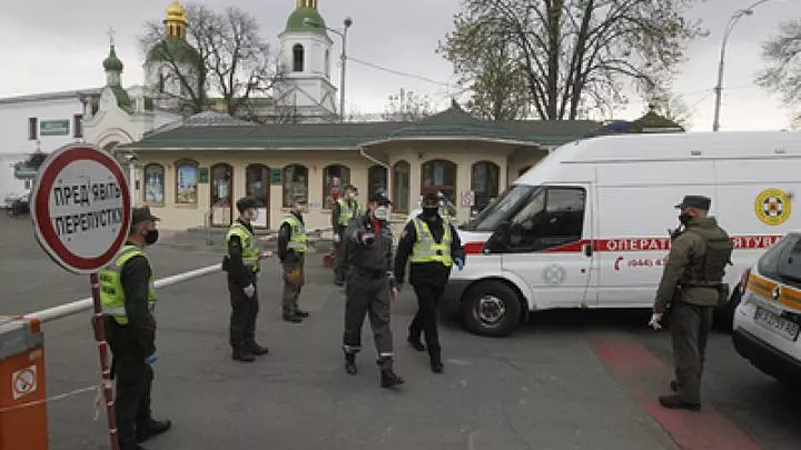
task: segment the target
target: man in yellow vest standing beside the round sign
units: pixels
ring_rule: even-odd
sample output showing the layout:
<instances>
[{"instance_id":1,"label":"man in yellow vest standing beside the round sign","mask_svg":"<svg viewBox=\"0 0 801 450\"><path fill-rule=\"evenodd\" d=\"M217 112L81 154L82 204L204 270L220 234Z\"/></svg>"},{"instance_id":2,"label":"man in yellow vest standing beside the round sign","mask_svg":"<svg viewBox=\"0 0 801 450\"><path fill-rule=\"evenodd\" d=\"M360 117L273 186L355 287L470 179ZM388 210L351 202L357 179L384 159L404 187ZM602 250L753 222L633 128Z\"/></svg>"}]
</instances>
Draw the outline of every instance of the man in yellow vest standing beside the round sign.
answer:
<instances>
[{"instance_id":1,"label":"man in yellow vest standing beside the round sign","mask_svg":"<svg viewBox=\"0 0 801 450\"><path fill-rule=\"evenodd\" d=\"M147 207L135 208L128 241L115 260L98 273L106 340L111 348L116 374L117 437L120 450L145 450L140 442L171 427L152 419L151 364L156 351L156 292L152 267L145 247L158 240L156 221Z\"/></svg>"}]
</instances>

